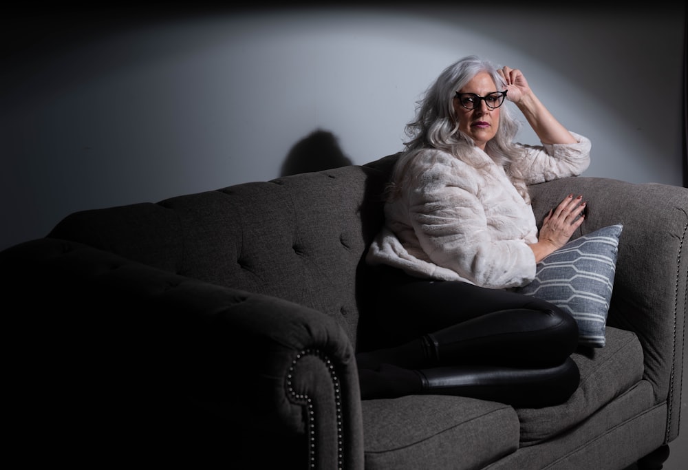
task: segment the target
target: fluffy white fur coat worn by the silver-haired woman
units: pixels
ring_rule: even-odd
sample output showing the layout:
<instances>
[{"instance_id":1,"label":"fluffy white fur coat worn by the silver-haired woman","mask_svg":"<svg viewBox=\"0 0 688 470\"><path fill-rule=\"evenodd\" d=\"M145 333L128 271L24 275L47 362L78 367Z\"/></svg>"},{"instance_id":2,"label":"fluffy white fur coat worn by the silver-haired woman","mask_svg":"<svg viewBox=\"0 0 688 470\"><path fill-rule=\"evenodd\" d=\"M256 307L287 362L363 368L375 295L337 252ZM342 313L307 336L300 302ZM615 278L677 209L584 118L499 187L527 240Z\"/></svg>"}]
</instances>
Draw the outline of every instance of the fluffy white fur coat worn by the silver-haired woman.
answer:
<instances>
[{"instance_id":1,"label":"fluffy white fur coat worn by the silver-haired woman","mask_svg":"<svg viewBox=\"0 0 688 470\"><path fill-rule=\"evenodd\" d=\"M526 157L517 164L528 184L588 168L590 140L573 135L577 144L522 146ZM408 162L410 184L385 204L385 226L370 246L369 264L489 288L533 280L535 255L528 246L537 242L533 209L486 153L476 147L471 158L486 169L436 149L420 151Z\"/></svg>"}]
</instances>

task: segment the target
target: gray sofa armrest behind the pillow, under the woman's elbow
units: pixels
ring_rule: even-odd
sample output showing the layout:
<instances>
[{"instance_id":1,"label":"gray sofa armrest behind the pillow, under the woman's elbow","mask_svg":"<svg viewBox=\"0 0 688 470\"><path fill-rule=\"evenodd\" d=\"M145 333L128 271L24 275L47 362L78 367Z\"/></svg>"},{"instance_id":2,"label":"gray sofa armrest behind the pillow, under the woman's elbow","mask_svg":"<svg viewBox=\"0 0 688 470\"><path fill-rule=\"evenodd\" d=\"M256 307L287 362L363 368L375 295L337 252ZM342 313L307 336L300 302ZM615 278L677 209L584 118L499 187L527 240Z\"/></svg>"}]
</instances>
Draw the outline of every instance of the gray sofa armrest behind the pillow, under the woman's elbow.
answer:
<instances>
[{"instance_id":1,"label":"gray sofa armrest behind the pillow, under the woman's elbow","mask_svg":"<svg viewBox=\"0 0 688 470\"><path fill-rule=\"evenodd\" d=\"M623 224L608 325L635 332L644 377L667 402L667 441L678 435L688 288L688 189L609 178L563 178L530 186L540 223L569 193L588 202L574 237Z\"/></svg>"}]
</instances>

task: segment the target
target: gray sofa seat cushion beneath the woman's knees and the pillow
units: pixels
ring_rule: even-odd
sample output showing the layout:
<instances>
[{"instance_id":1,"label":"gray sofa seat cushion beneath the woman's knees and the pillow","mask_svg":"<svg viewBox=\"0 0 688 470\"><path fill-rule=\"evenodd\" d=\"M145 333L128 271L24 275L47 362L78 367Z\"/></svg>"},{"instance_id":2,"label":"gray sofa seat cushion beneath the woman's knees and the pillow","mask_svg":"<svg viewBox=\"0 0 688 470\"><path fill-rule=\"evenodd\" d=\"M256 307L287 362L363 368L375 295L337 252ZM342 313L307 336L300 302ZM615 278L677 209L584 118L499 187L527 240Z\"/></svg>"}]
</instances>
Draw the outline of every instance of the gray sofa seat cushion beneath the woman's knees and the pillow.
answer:
<instances>
[{"instance_id":1,"label":"gray sofa seat cushion beneath the woman's knees and the pillow","mask_svg":"<svg viewBox=\"0 0 688 470\"><path fill-rule=\"evenodd\" d=\"M580 348L572 356L581 383L566 403L517 409L521 446L537 444L581 423L643 377L643 348L633 332L607 327L604 348Z\"/></svg>"}]
</instances>

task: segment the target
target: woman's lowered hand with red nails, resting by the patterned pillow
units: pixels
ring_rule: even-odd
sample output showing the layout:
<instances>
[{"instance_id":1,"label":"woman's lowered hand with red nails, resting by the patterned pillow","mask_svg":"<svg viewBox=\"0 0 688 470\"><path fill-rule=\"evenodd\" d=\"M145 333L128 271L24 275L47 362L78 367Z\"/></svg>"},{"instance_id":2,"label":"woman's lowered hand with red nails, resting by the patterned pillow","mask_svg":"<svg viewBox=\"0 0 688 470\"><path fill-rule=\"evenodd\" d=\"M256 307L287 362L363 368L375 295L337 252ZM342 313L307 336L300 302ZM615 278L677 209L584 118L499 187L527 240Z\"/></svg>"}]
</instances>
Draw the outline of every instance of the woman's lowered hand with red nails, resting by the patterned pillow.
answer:
<instances>
[{"instance_id":1,"label":"woman's lowered hand with red nails, resting by the patterned pillow","mask_svg":"<svg viewBox=\"0 0 688 470\"><path fill-rule=\"evenodd\" d=\"M566 196L555 209L550 210L542 222L537 243L530 245L536 263L569 241L576 229L583 224L583 211L583 196L573 197L572 194Z\"/></svg>"}]
</instances>

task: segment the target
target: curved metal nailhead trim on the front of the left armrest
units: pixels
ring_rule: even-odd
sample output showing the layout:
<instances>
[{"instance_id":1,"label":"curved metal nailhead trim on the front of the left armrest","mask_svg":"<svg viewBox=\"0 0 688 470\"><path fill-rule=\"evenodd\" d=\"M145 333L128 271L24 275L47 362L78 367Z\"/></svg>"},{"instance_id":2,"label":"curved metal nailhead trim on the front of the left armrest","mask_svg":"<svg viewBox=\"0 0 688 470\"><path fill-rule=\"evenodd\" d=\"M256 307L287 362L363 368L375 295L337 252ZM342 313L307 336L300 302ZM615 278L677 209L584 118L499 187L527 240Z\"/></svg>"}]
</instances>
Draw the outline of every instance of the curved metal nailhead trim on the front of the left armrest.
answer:
<instances>
[{"instance_id":1,"label":"curved metal nailhead trim on the front of the left armrest","mask_svg":"<svg viewBox=\"0 0 688 470\"><path fill-rule=\"evenodd\" d=\"M299 352L297 354L296 359L292 361L291 367L289 367L289 370L287 372L287 390L289 394L292 396L293 400L296 403L301 403L301 405L305 405L308 407L308 422L306 423L306 434L308 434L308 443L309 443L309 455L310 455L310 468L314 469L316 467L316 439L315 439L315 407L313 406L313 401L312 398L310 398L307 394L298 394L294 390L294 385L292 383L292 376L294 374L294 368L297 365L297 362L302 359L304 356L317 356L319 359L321 359L326 365L327 369L330 370L330 377L332 378L332 385L334 385L334 400L336 403L336 414L337 414L337 445L338 445L338 453L337 453L337 467L338 469L343 469L344 468L344 445L343 445L343 440L344 437L342 435L342 407L341 407L341 388L339 386L339 378L337 377L336 372L334 371L334 365L332 364L332 361L330 361L330 358L327 357L321 350L316 350L316 349L307 349Z\"/></svg>"}]
</instances>

